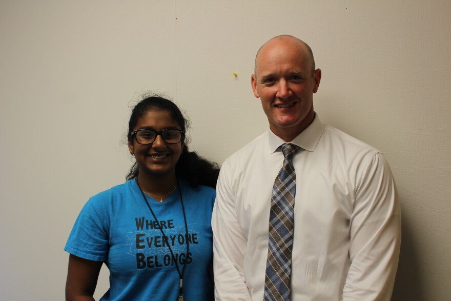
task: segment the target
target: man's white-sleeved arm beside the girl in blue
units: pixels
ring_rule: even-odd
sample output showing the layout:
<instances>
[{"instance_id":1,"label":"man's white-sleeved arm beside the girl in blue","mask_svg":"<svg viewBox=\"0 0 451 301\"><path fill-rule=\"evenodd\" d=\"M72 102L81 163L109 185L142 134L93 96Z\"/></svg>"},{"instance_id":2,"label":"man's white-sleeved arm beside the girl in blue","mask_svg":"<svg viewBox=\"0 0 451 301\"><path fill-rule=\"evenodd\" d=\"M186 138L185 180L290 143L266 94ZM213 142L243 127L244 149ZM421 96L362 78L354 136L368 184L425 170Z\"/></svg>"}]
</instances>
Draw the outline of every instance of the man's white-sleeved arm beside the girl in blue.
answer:
<instances>
[{"instance_id":1,"label":"man's white-sleeved arm beside the girl in blue","mask_svg":"<svg viewBox=\"0 0 451 301\"><path fill-rule=\"evenodd\" d=\"M243 272L247 237L237 219L230 178L226 162L219 173L212 216L215 300L250 301Z\"/></svg>"}]
</instances>

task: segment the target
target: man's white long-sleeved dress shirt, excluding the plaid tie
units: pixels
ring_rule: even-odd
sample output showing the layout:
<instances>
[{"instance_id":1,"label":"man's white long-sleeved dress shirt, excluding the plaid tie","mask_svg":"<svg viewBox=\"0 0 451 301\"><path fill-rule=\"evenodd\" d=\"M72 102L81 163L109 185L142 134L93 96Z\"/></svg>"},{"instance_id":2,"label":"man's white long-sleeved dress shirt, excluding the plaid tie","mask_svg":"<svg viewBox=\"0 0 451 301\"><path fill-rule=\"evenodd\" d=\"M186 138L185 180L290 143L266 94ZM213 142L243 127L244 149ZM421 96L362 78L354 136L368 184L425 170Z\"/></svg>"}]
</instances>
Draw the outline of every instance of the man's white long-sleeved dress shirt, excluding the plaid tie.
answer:
<instances>
[{"instance_id":1,"label":"man's white long-sleeved dress shirt, excluding the plaid tie","mask_svg":"<svg viewBox=\"0 0 451 301\"><path fill-rule=\"evenodd\" d=\"M271 191L285 143L270 129L223 163L213 210L216 300L263 300ZM292 301L389 300L401 240L392 172L377 149L318 116L291 143Z\"/></svg>"}]
</instances>

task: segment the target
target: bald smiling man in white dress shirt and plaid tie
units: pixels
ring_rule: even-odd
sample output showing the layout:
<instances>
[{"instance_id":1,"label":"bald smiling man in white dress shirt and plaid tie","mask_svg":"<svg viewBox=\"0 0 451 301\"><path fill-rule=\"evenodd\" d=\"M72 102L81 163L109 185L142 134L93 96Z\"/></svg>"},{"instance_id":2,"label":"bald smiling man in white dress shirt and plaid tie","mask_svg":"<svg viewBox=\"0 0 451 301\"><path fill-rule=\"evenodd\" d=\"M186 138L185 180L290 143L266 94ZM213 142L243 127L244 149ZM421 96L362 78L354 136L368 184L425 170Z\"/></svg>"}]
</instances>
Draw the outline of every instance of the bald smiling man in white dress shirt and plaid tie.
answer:
<instances>
[{"instance_id":1,"label":"bald smiling man in white dress shirt and plaid tie","mask_svg":"<svg viewBox=\"0 0 451 301\"><path fill-rule=\"evenodd\" d=\"M320 80L310 47L293 36L257 52L251 84L269 129L221 168L216 300L391 297L401 239L395 182L377 149L321 123Z\"/></svg>"}]
</instances>

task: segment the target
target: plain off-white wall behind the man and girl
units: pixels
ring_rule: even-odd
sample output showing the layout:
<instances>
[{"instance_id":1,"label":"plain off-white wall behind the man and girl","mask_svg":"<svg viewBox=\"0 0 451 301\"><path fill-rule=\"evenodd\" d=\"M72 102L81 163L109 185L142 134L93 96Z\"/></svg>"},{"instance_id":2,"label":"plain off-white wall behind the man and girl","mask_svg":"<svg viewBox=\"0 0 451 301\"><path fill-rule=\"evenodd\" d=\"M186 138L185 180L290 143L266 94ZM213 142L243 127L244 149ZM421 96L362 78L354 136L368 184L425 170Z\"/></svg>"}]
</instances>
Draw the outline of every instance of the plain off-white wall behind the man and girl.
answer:
<instances>
[{"instance_id":1,"label":"plain off-white wall behind the man and girl","mask_svg":"<svg viewBox=\"0 0 451 301\"><path fill-rule=\"evenodd\" d=\"M450 14L448 0L0 0L0 300L64 299L67 236L89 196L124 182L142 90L174 97L191 148L219 163L265 131L250 76L283 33L313 48L322 121L391 164L393 300L449 300ZM107 287L104 270L97 298Z\"/></svg>"}]
</instances>

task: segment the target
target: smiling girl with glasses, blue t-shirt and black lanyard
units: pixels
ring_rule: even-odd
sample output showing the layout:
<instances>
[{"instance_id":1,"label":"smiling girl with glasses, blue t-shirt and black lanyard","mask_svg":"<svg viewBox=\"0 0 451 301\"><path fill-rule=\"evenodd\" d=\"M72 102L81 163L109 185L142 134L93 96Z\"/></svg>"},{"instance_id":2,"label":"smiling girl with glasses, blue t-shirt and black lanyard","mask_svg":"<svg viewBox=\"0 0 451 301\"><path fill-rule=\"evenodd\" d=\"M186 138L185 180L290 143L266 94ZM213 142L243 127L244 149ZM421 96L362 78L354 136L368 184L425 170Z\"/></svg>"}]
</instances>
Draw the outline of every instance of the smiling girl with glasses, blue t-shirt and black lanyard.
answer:
<instances>
[{"instance_id":1,"label":"smiling girl with glasses, blue t-shirt and black lanyard","mask_svg":"<svg viewBox=\"0 0 451 301\"><path fill-rule=\"evenodd\" d=\"M128 146L136 163L125 184L91 197L65 250L66 300L94 300L103 263L110 289L100 300L213 300L211 215L217 164L190 152L188 121L150 95L133 109Z\"/></svg>"}]
</instances>

